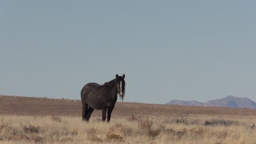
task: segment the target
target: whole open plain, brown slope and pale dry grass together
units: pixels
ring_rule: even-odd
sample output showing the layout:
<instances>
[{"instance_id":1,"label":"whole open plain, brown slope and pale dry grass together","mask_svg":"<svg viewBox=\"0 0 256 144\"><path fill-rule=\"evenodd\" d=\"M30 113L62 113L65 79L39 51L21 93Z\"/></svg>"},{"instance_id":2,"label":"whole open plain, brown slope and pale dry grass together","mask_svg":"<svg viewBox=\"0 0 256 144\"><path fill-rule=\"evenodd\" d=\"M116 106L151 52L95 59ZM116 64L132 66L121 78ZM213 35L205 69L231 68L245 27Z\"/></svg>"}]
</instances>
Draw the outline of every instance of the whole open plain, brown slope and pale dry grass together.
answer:
<instances>
[{"instance_id":1,"label":"whole open plain, brown slope and pale dry grass together","mask_svg":"<svg viewBox=\"0 0 256 144\"><path fill-rule=\"evenodd\" d=\"M256 143L256 110L117 103L82 122L79 100L0 96L0 143Z\"/></svg>"}]
</instances>

